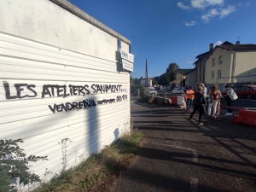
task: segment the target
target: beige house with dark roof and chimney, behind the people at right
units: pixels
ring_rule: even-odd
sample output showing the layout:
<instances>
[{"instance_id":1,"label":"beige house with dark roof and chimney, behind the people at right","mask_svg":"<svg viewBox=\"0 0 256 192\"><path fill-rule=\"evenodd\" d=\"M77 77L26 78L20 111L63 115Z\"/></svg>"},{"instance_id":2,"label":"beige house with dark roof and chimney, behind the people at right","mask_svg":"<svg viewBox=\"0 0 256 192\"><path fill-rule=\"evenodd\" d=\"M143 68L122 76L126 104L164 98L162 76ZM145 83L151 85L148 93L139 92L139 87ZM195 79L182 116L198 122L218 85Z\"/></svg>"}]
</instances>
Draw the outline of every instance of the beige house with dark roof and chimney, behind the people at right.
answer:
<instances>
[{"instance_id":1,"label":"beige house with dark roof and chimney, behind the people at right","mask_svg":"<svg viewBox=\"0 0 256 192\"><path fill-rule=\"evenodd\" d=\"M256 83L256 44L226 41L216 46L207 55L205 77L207 87L218 80L220 90L228 83Z\"/></svg>"}]
</instances>

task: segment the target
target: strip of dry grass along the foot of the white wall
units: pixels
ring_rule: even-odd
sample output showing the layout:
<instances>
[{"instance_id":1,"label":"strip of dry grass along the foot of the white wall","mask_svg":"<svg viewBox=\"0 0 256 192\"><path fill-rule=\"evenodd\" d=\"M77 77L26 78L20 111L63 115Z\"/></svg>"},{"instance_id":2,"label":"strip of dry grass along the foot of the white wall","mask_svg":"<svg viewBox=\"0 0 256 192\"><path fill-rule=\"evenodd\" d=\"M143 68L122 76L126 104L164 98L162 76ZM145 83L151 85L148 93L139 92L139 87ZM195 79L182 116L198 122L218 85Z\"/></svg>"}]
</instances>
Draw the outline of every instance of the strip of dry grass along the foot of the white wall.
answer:
<instances>
[{"instance_id":1,"label":"strip of dry grass along the foot of the white wall","mask_svg":"<svg viewBox=\"0 0 256 192\"><path fill-rule=\"evenodd\" d=\"M120 173L136 157L142 139L138 131L119 137L100 154L93 154L79 166L62 171L34 191L111 191Z\"/></svg>"}]
</instances>

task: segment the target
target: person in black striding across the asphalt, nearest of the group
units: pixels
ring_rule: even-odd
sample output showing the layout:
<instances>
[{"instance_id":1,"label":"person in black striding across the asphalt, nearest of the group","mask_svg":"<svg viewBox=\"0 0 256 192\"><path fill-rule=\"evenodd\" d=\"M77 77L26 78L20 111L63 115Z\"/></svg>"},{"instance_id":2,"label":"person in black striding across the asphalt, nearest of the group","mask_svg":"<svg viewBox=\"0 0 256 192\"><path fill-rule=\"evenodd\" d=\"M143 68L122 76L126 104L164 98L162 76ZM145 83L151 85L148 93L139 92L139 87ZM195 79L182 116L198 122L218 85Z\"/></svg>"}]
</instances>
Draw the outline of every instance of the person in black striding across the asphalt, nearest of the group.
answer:
<instances>
[{"instance_id":1,"label":"person in black striding across the asphalt, nearest of the group","mask_svg":"<svg viewBox=\"0 0 256 192\"><path fill-rule=\"evenodd\" d=\"M197 92L195 93L194 110L190 114L190 117L189 117L189 121L191 121L195 112L198 111L199 112L198 125L203 125L203 123L201 122L201 116L202 116L202 113L204 112L203 105L207 104L206 97L203 96L203 94L201 93L201 90L202 90L202 87L198 86L197 87Z\"/></svg>"}]
</instances>

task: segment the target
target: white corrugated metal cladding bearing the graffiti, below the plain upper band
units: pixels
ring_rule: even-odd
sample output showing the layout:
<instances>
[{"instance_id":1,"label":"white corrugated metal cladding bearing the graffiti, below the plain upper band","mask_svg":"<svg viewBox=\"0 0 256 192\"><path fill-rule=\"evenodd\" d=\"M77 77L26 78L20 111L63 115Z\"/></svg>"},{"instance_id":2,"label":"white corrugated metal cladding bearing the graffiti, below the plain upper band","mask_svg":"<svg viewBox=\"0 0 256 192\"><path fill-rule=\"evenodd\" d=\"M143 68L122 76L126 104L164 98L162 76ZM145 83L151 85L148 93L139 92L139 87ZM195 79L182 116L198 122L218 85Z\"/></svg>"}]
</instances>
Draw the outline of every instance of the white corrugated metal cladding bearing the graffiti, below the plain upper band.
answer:
<instances>
[{"instance_id":1,"label":"white corrugated metal cladding bearing the graffiti, below the plain upper band","mask_svg":"<svg viewBox=\"0 0 256 192\"><path fill-rule=\"evenodd\" d=\"M61 139L73 141L68 166L75 166L130 131L130 75L115 61L0 33L0 70L1 138L21 138L26 154L48 155L32 165L40 176L61 171Z\"/></svg>"}]
</instances>

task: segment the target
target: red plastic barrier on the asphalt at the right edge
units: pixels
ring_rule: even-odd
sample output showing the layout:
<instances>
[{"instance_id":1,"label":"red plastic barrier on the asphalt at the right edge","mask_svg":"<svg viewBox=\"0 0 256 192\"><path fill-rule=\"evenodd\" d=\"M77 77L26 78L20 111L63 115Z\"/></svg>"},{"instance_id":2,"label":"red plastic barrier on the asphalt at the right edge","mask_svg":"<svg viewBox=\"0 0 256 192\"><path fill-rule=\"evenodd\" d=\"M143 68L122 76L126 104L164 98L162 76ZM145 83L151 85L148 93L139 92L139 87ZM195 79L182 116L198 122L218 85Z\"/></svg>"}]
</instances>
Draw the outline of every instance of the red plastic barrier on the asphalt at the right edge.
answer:
<instances>
[{"instance_id":1,"label":"red plastic barrier on the asphalt at the right edge","mask_svg":"<svg viewBox=\"0 0 256 192\"><path fill-rule=\"evenodd\" d=\"M256 127L256 111L239 110L238 115L233 115L233 122Z\"/></svg>"}]
</instances>

